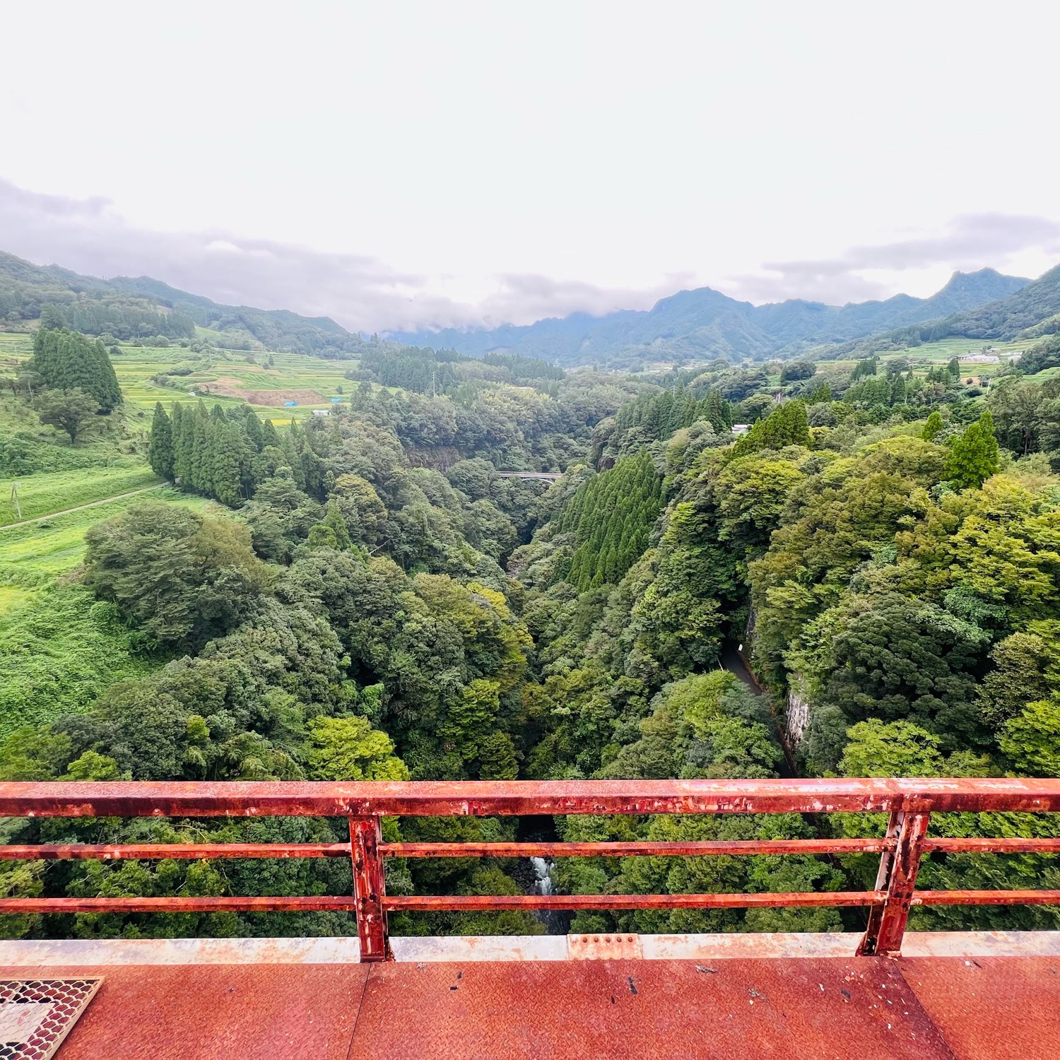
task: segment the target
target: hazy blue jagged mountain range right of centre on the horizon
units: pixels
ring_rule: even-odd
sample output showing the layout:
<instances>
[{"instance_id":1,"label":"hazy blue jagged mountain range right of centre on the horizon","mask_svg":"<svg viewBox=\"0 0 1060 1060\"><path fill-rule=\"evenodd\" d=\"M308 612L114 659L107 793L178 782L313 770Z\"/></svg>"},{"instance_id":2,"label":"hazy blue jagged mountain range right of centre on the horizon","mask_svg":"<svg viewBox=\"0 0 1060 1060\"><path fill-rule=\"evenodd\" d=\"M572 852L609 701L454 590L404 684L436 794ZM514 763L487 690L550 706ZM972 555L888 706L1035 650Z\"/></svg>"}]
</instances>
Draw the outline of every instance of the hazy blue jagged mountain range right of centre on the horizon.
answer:
<instances>
[{"instance_id":1,"label":"hazy blue jagged mountain range right of centre on the horizon","mask_svg":"<svg viewBox=\"0 0 1060 1060\"><path fill-rule=\"evenodd\" d=\"M389 337L410 346L452 348L473 356L504 349L561 365L707 356L763 358L950 318L1018 297L1028 285L1034 286L1029 280L985 268L955 272L931 298L896 295L886 301L843 306L801 299L752 305L710 287L699 287L664 298L647 312L623 310L602 317L576 313L525 326L396 332Z\"/></svg>"}]
</instances>

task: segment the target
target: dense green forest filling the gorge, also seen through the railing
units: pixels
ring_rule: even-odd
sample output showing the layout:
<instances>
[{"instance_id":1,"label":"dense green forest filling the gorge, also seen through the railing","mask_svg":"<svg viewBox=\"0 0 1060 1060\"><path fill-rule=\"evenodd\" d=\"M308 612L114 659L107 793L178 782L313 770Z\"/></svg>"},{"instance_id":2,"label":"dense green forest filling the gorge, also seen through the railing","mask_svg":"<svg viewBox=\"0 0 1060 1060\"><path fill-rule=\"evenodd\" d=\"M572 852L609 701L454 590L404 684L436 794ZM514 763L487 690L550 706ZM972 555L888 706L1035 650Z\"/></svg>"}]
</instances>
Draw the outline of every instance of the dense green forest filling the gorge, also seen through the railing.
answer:
<instances>
[{"instance_id":1,"label":"dense green forest filling the gorge, also seen through the railing","mask_svg":"<svg viewBox=\"0 0 1060 1060\"><path fill-rule=\"evenodd\" d=\"M61 334L61 333L59 333ZM91 343L78 349L88 350ZM88 354L86 353L86 356ZM156 409L186 510L87 534L77 590L142 664L11 731L4 779L501 779L1060 774L1060 391L1007 368L717 360L655 383L526 357L385 352L328 417ZM1035 368L1056 356L1046 339ZM438 386L440 366L454 375ZM427 372L434 378L428 379ZM386 386L387 374L406 382ZM466 374L460 374L465 372ZM396 378L396 374L394 376ZM407 384L407 385L406 385ZM425 388L425 389L424 389ZM735 436L734 424L747 426ZM554 483L498 469L564 472ZM742 646L754 682L730 659ZM56 687L56 683L59 687ZM46 691L46 689L51 691ZM34 692L34 694L36 694ZM328 820L29 820L8 842L331 840ZM564 838L878 834L871 815L558 818ZM940 814L949 835L1055 834ZM492 818L388 822L499 840ZM873 856L564 859L573 894L871 886ZM513 860L388 862L395 894L518 893ZM1055 859L932 853L928 887L1060 886ZM7 893L347 893L336 861L4 863ZM832 930L828 908L580 913L576 930ZM1056 926L933 907L918 926ZM393 930L533 933L530 916ZM13 926L11 922L8 929ZM350 931L343 915L22 918L29 936Z\"/></svg>"}]
</instances>

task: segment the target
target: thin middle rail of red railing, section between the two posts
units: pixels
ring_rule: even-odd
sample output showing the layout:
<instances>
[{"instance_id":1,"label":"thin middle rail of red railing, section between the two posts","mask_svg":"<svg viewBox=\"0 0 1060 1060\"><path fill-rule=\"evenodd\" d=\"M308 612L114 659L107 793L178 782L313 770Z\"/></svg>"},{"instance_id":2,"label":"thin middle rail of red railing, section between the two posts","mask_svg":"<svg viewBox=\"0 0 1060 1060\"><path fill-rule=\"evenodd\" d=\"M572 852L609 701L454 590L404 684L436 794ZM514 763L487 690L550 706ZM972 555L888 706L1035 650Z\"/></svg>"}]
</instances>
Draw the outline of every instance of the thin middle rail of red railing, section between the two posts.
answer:
<instances>
[{"instance_id":1,"label":"thin middle rail of red railing, section between the two posts","mask_svg":"<svg viewBox=\"0 0 1060 1060\"><path fill-rule=\"evenodd\" d=\"M701 843L384 843L384 858L700 858L848 854L893 850L894 840L734 840Z\"/></svg>"}]
</instances>

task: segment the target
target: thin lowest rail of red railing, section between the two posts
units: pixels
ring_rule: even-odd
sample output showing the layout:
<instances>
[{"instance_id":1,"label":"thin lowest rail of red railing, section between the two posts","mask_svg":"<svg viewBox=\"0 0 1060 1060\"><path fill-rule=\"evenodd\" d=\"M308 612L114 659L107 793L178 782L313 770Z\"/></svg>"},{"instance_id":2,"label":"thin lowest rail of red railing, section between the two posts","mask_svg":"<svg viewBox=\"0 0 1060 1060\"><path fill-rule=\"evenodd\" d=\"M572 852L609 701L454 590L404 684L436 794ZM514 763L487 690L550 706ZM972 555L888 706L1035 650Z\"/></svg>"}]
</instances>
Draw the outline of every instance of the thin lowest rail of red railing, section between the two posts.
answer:
<instances>
[{"instance_id":1,"label":"thin lowest rail of red railing, section between the two posts","mask_svg":"<svg viewBox=\"0 0 1060 1060\"><path fill-rule=\"evenodd\" d=\"M873 890L799 890L757 895L393 895L388 909L717 909L794 905L878 905Z\"/></svg>"}]
</instances>

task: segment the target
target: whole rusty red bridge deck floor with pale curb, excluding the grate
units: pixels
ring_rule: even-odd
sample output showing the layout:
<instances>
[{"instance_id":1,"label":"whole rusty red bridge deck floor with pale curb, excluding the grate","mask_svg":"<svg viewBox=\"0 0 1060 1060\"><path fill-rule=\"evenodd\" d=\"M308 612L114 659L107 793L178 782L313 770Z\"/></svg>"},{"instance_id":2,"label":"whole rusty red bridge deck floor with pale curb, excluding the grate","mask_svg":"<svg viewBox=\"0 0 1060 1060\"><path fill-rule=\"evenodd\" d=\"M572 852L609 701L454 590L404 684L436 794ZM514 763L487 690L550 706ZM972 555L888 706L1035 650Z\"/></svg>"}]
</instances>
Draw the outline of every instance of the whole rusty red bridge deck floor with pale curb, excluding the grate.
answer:
<instances>
[{"instance_id":1,"label":"whole rusty red bridge deck floor with pale curb, excluding the grate","mask_svg":"<svg viewBox=\"0 0 1060 1060\"><path fill-rule=\"evenodd\" d=\"M538 941L551 952L529 940L531 956ZM600 943L587 952L607 953ZM0 943L0 953L30 961L4 977L104 977L59 1060L1060 1056L1056 940L1037 956L997 956L997 947L898 959L725 956L756 952L752 941L699 946L714 954L700 959L579 960L571 943L558 960L469 951L375 965L316 941L300 953L297 941L281 942L271 954L214 944L208 962L164 941L132 950L158 962L41 964L39 949L32 956L19 943ZM429 955L431 942L417 949Z\"/></svg>"}]
</instances>

